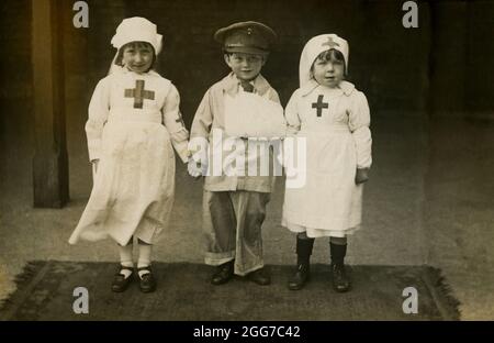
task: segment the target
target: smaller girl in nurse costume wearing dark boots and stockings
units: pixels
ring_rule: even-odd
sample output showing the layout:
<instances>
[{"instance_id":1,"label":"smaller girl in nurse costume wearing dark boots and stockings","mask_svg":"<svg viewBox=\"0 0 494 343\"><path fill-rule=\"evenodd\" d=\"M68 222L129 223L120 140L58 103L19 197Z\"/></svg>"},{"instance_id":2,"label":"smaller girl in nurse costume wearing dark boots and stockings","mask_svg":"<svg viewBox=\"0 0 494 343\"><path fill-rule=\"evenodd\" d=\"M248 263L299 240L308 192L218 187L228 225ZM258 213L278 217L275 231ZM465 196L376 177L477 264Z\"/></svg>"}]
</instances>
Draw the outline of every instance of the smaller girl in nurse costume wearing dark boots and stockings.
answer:
<instances>
[{"instance_id":1,"label":"smaller girl in nurse costume wearing dark boots and stockings","mask_svg":"<svg viewBox=\"0 0 494 343\"><path fill-rule=\"evenodd\" d=\"M347 291L347 235L361 223L363 182L371 166L370 114L366 96L345 80L348 43L335 34L313 37L300 60L300 88L285 117L289 133L306 140L306 182L287 188L282 224L296 233L297 266L289 288L310 277L314 239L329 239L333 287ZM299 166L300 169L300 166ZM287 170L290 174L290 170Z\"/></svg>"}]
</instances>

